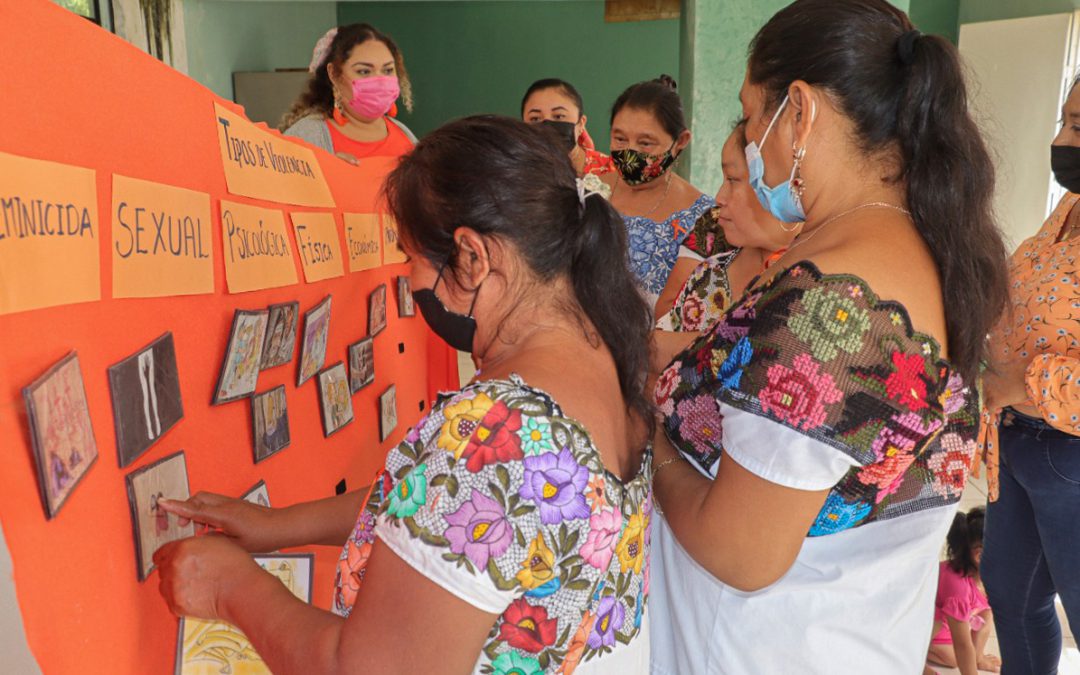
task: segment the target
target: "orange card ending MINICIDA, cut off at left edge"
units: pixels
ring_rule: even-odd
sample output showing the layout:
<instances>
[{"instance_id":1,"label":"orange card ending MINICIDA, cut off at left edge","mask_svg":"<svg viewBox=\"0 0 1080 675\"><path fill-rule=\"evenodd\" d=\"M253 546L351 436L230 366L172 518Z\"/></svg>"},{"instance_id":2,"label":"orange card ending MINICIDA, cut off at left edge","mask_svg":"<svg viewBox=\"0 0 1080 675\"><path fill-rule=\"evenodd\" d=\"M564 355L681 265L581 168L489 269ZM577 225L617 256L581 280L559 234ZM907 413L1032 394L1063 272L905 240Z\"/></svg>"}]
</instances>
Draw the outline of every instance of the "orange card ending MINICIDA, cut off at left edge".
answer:
<instances>
[{"instance_id":1,"label":"orange card ending MINICIDA, cut off at left edge","mask_svg":"<svg viewBox=\"0 0 1080 675\"><path fill-rule=\"evenodd\" d=\"M94 171L0 152L0 314L102 298Z\"/></svg>"}]
</instances>

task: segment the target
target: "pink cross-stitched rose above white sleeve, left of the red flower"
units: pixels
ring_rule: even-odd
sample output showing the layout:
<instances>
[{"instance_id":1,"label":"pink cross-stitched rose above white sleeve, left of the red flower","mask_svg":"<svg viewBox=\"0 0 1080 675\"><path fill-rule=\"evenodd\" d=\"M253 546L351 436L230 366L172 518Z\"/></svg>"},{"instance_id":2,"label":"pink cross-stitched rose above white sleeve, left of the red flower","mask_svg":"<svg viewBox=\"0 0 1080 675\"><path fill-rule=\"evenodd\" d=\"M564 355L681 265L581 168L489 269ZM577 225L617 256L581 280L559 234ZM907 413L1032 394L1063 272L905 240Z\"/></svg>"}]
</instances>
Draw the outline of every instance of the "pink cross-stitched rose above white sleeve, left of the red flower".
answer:
<instances>
[{"instance_id":1,"label":"pink cross-stitched rose above white sleeve, left of the red flower","mask_svg":"<svg viewBox=\"0 0 1080 675\"><path fill-rule=\"evenodd\" d=\"M810 354L799 354L792 365L769 366L769 382L758 392L761 409L793 427L816 429L825 423L825 405L839 402L843 392Z\"/></svg>"}]
</instances>

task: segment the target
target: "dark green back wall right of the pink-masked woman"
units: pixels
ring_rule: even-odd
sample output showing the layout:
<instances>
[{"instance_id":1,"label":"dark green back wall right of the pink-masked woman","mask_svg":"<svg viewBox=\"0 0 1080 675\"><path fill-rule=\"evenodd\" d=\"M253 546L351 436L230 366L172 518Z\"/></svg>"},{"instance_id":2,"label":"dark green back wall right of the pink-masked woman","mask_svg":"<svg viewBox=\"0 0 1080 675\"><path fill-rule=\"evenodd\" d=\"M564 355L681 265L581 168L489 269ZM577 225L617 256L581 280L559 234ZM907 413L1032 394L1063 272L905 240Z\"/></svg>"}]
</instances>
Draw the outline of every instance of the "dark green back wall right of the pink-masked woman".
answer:
<instances>
[{"instance_id":1,"label":"dark green back wall right of the pink-masked woman","mask_svg":"<svg viewBox=\"0 0 1080 675\"><path fill-rule=\"evenodd\" d=\"M608 24L600 0L341 2L338 18L367 22L401 46L416 111L400 119L417 134L477 112L516 117L525 89L554 77L581 92L589 133L606 150L622 90L679 77L676 19Z\"/></svg>"}]
</instances>

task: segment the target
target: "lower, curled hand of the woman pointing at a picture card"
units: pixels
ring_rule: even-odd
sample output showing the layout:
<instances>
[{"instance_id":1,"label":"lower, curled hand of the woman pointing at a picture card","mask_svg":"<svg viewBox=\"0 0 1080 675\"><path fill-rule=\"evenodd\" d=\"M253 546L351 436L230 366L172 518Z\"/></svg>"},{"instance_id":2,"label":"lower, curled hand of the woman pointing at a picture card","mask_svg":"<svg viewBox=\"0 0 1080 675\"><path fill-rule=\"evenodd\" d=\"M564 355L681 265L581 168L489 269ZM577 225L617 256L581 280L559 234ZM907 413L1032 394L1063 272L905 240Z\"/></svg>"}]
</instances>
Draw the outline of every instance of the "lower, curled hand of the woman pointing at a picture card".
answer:
<instances>
[{"instance_id":1,"label":"lower, curled hand of the woman pointing at a picture card","mask_svg":"<svg viewBox=\"0 0 1080 675\"><path fill-rule=\"evenodd\" d=\"M189 537L153 554L161 575L159 590L168 609L180 617L228 620L230 593L251 588L264 573L255 561L225 537Z\"/></svg>"}]
</instances>

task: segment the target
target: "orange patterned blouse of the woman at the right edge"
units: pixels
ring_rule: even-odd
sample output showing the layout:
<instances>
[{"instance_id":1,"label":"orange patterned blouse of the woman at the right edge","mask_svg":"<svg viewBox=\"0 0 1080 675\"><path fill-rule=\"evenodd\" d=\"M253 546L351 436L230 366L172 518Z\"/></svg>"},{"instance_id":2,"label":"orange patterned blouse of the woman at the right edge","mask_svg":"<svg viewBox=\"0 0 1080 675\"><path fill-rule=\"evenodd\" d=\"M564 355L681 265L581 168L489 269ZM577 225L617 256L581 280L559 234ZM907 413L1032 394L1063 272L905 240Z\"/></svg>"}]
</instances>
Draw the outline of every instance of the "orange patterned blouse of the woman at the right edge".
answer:
<instances>
[{"instance_id":1,"label":"orange patterned blouse of the woman at the right edge","mask_svg":"<svg viewBox=\"0 0 1080 675\"><path fill-rule=\"evenodd\" d=\"M1080 435L1080 239L1057 241L1080 194L1067 193L1039 232L1009 259L1010 309L990 335L995 362L1030 360L1028 406L1048 424ZM1022 410L1023 411L1023 410ZM998 411L984 411L983 460L998 497Z\"/></svg>"}]
</instances>

